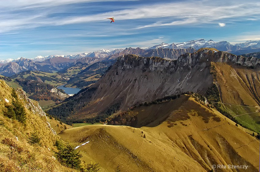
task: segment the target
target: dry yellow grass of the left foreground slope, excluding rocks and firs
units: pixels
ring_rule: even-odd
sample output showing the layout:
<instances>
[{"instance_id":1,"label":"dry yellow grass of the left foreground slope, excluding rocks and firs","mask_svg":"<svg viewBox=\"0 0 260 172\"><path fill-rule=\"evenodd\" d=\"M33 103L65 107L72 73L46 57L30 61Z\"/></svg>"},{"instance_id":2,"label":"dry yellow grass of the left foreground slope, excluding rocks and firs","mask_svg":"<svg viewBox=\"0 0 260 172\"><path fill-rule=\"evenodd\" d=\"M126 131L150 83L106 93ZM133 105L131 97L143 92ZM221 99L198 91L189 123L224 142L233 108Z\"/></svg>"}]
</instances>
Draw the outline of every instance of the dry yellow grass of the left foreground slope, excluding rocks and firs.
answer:
<instances>
[{"instance_id":1,"label":"dry yellow grass of the left foreground slope, excluding rocks and firs","mask_svg":"<svg viewBox=\"0 0 260 172\"><path fill-rule=\"evenodd\" d=\"M10 120L3 116L6 104L5 98L10 102L12 101L11 88L0 80L0 171L75 171L61 166L52 157L53 150L55 150L53 143L58 136L54 135L47 127L46 117L40 117L39 114L34 114L25 108L26 124L21 124L17 120ZM37 102L31 101L31 103L36 105ZM37 132L42 137L42 146L28 143L28 137L33 132Z\"/></svg>"}]
</instances>

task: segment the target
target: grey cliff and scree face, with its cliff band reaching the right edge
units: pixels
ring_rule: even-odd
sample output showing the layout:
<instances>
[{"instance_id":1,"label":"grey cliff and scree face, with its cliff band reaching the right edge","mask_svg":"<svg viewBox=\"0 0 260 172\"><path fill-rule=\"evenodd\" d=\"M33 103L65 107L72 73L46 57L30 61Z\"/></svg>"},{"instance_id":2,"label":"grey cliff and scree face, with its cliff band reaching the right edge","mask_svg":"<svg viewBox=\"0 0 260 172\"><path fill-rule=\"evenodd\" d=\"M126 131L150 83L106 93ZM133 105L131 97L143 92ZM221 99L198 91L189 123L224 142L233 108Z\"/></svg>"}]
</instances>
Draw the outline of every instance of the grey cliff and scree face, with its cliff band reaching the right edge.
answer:
<instances>
[{"instance_id":1,"label":"grey cliff and scree face, with its cliff band reaching the right edge","mask_svg":"<svg viewBox=\"0 0 260 172\"><path fill-rule=\"evenodd\" d=\"M185 53L176 60L124 54L90 87L90 90L95 90L93 94L86 90L73 97L74 100L80 100L81 104L86 102L74 113L91 117L104 113L115 104L120 104L120 109L125 110L145 101L151 102L187 91L204 95L214 81L212 62L248 67L258 67L260 64L259 59L253 57L209 49Z\"/></svg>"}]
</instances>

